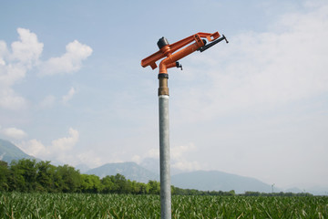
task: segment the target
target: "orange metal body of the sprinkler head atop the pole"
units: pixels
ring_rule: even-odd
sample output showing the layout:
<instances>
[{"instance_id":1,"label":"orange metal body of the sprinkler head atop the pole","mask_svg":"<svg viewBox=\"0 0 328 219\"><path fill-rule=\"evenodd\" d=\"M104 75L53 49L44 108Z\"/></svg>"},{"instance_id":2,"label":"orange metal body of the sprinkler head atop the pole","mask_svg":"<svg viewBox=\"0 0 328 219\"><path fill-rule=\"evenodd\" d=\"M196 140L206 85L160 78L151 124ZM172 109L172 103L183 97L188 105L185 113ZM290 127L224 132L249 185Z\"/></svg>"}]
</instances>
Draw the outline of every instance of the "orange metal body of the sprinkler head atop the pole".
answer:
<instances>
[{"instance_id":1,"label":"orange metal body of the sprinkler head atop the pole","mask_svg":"<svg viewBox=\"0 0 328 219\"><path fill-rule=\"evenodd\" d=\"M177 67L176 62L179 59L190 55L191 53L193 53L200 47L204 46L204 42L201 38L207 38L207 40L213 41L219 37L220 37L219 32L215 32L213 34L197 33L195 35L192 35L192 36L189 36L182 40L179 40L176 43L161 47L158 52L154 53L153 55L151 55L149 57L142 59L141 66L143 68L150 66L152 69L155 69L158 67L156 62L159 59L166 57L159 63L159 74L168 74L168 68ZM195 41L195 43L186 47L193 41ZM184 48L182 48L182 47L184 47ZM182 48L182 49L180 49L180 48Z\"/></svg>"}]
</instances>

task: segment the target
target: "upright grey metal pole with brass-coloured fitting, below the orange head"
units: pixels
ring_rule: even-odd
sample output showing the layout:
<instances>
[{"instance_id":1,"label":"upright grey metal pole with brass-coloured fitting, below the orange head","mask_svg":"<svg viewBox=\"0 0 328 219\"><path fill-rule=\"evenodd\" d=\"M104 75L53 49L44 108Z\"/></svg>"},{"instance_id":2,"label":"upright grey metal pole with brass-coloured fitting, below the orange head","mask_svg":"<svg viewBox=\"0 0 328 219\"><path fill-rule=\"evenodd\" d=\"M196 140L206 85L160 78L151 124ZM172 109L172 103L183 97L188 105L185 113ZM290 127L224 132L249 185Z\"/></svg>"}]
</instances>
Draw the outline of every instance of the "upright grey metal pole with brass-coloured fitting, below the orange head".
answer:
<instances>
[{"instance_id":1,"label":"upright grey metal pole with brass-coloured fitting, below the orange head","mask_svg":"<svg viewBox=\"0 0 328 219\"><path fill-rule=\"evenodd\" d=\"M168 74L159 74L160 218L171 219Z\"/></svg>"}]
</instances>

